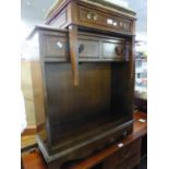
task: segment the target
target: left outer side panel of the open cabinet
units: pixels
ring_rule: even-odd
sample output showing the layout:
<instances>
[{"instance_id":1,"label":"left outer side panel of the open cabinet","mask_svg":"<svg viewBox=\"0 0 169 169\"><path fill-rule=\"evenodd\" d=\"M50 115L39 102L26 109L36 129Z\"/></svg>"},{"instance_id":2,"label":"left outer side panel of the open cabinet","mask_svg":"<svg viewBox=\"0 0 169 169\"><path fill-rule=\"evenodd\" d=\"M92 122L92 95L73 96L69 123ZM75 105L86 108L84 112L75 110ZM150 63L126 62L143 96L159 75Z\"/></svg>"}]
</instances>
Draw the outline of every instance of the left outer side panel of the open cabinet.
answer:
<instances>
[{"instance_id":1,"label":"left outer side panel of the open cabinet","mask_svg":"<svg viewBox=\"0 0 169 169\"><path fill-rule=\"evenodd\" d=\"M40 45L39 33L37 33L33 39L31 39L32 46L35 51L31 51L31 75L33 87L33 99L36 118L37 134L43 142L47 141L46 133L46 116L45 116L45 95L44 95L44 81L43 81L43 68L40 61ZM33 48L33 47L32 47Z\"/></svg>"}]
</instances>

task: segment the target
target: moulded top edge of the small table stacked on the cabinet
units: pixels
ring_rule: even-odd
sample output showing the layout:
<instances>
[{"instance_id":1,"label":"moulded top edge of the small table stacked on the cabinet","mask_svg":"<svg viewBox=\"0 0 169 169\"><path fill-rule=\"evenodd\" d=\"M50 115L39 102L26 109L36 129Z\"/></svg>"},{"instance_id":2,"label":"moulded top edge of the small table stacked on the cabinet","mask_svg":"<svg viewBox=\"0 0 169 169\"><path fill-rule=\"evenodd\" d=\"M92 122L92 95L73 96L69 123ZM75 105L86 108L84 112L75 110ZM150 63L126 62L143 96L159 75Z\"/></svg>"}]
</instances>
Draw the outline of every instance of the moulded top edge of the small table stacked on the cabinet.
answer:
<instances>
[{"instance_id":1,"label":"moulded top edge of the small table stacked on the cabinet","mask_svg":"<svg viewBox=\"0 0 169 169\"><path fill-rule=\"evenodd\" d=\"M46 14L46 24L49 24L56 17L56 15L58 15L58 13L60 13L71 2L75 2L80 5L90 7L100 11L106 11L106 13L111 12L120 16L136 20L136 13L133 10L118 5L116 3L110 3L101 0L99 2L90 0L63 0L61 2L53 3L52 7L48 10Z\"/></svg>"}]
</instances>

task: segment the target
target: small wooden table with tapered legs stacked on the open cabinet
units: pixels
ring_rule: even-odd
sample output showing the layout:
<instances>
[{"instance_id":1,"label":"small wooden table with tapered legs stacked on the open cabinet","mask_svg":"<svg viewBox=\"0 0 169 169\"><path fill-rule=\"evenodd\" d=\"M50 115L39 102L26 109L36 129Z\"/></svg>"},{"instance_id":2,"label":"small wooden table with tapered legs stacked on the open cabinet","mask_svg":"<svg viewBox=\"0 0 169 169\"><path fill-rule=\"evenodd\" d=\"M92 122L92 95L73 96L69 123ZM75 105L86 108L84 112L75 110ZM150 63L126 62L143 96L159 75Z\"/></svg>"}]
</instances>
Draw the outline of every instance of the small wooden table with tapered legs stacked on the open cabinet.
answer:
<instances>
[{"instance_id":1,"label":"small wooden table with tapered legs stacked on the open cabinet","mask_svg":"<svg viewBox=\"0 0 169 169\"><path fill-rule=\"evenodd\" d=\"M80 29L83 31L93 31L98 32L99 34L108 34L111 33L112 35L117 34L116 36L128 36L131 37L131 43L133 43L133 35L135 32L135 12L116 7L112 8L104 7L98 3L93 3L86 0L65 0L60 5L55 9L53 12L47 17L46 24L59 27L59 28L68 28L70 31L70 57L72 61L72 72L74 79L74 85L79 85L79 48L77 46L77 32ZM96 41L90 41L90 45L96 50L95 53L90 52L89 55L86 53L85 58L95 59L98 56L98 48ZM125 47L114 45L111 43L104 43L100 45L102 51L104 59L114 59L121 60L125 55ZM133 44L131 45L133 46ZM82 45L80 48L84 49ZM87 50L85 48L85 50ZM89 51L90 49L88 49ZM81 57L83 53L81 53ZM82 57L84 58L84 56ZM100 58L100 56L99 56ZM131 64L131 76L133 76L134 64L133 64L133 55L131 53L131 58L128 58ZM125 59L123 59L125 60Z\"/></svg>"}]
</instances>

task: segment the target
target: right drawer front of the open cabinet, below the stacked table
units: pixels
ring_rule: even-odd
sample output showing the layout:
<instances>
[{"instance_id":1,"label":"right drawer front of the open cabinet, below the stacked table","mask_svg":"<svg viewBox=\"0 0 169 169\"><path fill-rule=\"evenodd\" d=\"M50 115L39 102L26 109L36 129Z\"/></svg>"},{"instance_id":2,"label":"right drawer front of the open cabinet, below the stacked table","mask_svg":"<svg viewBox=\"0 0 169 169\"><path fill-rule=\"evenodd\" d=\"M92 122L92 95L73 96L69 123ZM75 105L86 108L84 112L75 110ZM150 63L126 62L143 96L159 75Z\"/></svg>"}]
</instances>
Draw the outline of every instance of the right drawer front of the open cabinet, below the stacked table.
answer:
<instances>
[{"instance_id":1,"label":"right drawer front of the open cabinet, below the stacked table","mask_svg":"<svg viewBox=\"0 0 169 169\"><path fill-rule=\"evenodd\" d=\"M111 41L101 43L101 56L104 59L128 60L128 51L124 45Z\"/></svg>"}]
</instances>

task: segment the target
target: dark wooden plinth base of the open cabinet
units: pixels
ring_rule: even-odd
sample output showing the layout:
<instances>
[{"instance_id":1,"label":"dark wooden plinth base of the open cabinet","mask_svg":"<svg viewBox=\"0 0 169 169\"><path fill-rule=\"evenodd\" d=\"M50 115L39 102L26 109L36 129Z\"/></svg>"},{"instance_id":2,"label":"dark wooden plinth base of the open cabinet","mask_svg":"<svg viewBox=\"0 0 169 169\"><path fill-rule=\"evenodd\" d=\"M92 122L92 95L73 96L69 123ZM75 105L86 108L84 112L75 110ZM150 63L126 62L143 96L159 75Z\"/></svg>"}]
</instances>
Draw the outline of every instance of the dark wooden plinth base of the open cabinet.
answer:
<instances>
[{"instance_id":1,"label":"dark wooden plinth base of the open cabinet","mask_svg":"<svg viewBox=\"0 0 169 169\"><path fill-rule=\"evenodd\" d=\"M62 166L71 165L71 161L82 160L83 158L92 155L93 153L101 150L104 147L113 144L120 138L129 135L133 131L134 120L128 121L114 129L110 129L99 135L95 135L89 140L77 143L53 155L49 155L47 147L44 145L40 137L37 135L36 140L38 146L46 159L48 169L61 169Z\"/></svg>"}]
</instances>

